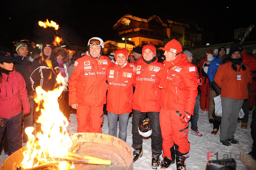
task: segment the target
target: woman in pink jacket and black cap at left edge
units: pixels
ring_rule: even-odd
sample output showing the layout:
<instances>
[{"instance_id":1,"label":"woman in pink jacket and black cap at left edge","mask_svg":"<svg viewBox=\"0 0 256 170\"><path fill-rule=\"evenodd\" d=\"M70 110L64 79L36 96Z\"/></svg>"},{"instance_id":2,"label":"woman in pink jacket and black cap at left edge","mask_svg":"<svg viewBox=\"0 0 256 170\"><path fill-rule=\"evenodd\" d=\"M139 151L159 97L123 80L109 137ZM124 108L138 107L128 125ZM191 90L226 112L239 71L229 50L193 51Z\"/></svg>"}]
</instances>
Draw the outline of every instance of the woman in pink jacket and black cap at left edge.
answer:
<instances>
[{"instance_id":1,"label":"woman in pink jacket and black cap at left edge","mask_svg":"<svg viewBox=\"0 0 256 170\"><path fill-rule=\"evenodd\" d=\"M30 112L26 83L14 70L15 60L7 53L0 54L0 139L7 127L9 155L22 148L21 119Z\"/></svg>"}]
</instances>

